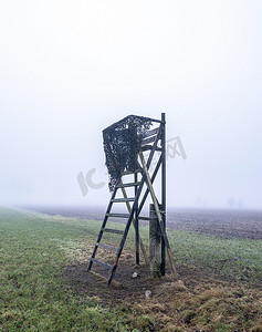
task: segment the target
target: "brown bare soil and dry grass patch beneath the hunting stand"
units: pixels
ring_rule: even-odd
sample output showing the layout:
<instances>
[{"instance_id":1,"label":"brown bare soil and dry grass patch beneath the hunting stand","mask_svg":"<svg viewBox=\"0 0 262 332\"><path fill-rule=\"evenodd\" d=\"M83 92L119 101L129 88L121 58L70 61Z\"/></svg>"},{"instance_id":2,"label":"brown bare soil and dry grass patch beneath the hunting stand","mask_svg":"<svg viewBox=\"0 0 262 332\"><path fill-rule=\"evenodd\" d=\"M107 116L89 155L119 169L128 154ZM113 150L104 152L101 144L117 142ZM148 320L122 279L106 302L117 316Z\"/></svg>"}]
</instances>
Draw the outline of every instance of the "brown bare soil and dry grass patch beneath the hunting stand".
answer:
<instances>
[{"instance_id":1,"label":"brown bare soil and dry grass patch beneath the hunting stand","mask_svg":"<svg viewBox=\"0 0 262 332\"><path fill-rule=\"evenodd\" d=\"M153 279L147 266L134 261L133 253L122 257L109 288L104 269L95 266L87 272L81 259L65 268L64 278L75 294L117 308L139 331L262 331L261 288L186 266L178 267L179 279L169 270Z\"/></svg>"}]
</instances>

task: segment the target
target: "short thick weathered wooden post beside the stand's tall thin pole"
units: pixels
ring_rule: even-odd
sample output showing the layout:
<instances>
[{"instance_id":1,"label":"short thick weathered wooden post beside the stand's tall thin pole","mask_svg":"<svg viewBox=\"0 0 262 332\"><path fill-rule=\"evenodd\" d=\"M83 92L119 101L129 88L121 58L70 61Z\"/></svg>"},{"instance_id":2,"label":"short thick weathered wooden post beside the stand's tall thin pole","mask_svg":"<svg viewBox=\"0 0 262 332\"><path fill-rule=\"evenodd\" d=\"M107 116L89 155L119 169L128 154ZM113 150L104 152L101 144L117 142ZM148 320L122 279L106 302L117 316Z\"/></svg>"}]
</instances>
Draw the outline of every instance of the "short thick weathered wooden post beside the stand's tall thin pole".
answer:
<instances>
[{"instance_id":1,"label":"short thick weathered wooden post beside the stand's tall thin pole","mask_svg":"<svg viewBox=\"0 0 262 332\"><path fill-rule=\"evenodd\" d=\"M154 204L149 209L149 257L150 273L154 278L161 277L161 229Z\"/></svg>"}]
</instances>

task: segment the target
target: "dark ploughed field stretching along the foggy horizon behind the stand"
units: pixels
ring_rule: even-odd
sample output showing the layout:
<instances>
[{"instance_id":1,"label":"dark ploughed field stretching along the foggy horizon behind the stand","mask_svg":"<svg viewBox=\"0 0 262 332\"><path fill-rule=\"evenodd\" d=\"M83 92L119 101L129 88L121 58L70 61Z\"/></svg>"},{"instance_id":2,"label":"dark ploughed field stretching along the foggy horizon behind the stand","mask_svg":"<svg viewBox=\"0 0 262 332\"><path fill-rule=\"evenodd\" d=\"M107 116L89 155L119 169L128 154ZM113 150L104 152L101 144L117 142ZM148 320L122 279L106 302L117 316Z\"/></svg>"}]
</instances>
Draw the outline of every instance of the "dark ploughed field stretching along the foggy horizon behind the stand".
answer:
<instances>
[{"instance_id":1,"label":"dark ploughed field stretching along the foggy horizon behind the stand","mask_svg":"<svg viewBox=\"0 0 262 332\"><path fill-rule=\"evenodd\" d=\"M27 207L48 215L102 220L105 209L83 207ZM167 227L219 237L262 239L262 210L169 209Z\"/></svg>"}]
</instances>

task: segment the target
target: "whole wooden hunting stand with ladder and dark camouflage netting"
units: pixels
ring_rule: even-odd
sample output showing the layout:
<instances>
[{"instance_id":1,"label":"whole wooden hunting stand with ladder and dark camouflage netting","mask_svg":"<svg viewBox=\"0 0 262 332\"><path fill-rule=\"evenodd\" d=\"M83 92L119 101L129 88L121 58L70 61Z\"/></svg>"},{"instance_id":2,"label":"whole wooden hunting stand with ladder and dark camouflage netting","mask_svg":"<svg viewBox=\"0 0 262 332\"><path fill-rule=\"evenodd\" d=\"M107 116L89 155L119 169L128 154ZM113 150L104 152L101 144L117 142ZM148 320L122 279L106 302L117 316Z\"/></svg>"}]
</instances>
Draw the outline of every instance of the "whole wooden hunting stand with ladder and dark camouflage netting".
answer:
<instances>
[{"instance_id":1,"label":"whole wooden hunting stand with ladder and dark camouflage netting","mask_svg":"<svg viewBox=\"0 0 262 332\"><path fill-rule=\"evenodd\" d=\"M93 263L97 263L103 268L109 270L107 284L109 286L124 245L133 224L135 227L136 239L136 263L139 264L139 247L144 255L146 263L148 263L147 253L143 241L139 237L139 220L149 220L148 217L140 216L142 209L150 194L154 204L155 214L159 222L161 234L161 258L160 258L160 273L165 276L166 272L166 250L171 266L172 274L176 276L175 261L170 250L169 241L166 234L166 120L165 113L161 114L161 120L153 120L148 117L129 115L116 124L103 131L104 148L106 153L106 165L111 176L109 188L112 197L105 212L105 217L95 243L93 255L90 259L87 271L92 269ZM145 156L148 152L148 156ZM149 173L155 153L158 154L158 162ZM139 162L138 162L139 158ZM161 176L161 193L160 205L154 190L154 181L158 172ZM126 176L133 175L133 181L124 181ZM133 196L127 194L127 189L133 188ZM120 191L120 198L117 198L117 193ZM113 212L113 206L119 203L125 203L128 214ZM160 209L160 207L161 209ZM125 229L108 228L107 222L111 218L125 219ZM118 248L105 245L102 242L105 234L115 234L120 237ZM104 248L116 252L114 263L109 264L96 259L98 248Z\"/></svg>"}]
</instances>

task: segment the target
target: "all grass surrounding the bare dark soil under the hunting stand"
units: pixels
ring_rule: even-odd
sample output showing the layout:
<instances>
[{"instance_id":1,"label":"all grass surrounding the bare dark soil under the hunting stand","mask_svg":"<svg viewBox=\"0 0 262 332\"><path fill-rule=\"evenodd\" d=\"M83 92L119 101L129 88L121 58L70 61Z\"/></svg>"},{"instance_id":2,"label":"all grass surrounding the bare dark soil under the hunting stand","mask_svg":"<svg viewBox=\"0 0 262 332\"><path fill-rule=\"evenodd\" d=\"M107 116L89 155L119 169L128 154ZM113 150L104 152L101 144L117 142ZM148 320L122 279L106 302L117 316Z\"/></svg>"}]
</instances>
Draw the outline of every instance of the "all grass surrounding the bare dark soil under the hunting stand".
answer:
<instances>
[{"instance_id":1,"label":"all grass surrounding the bare dark soil under the hunting stand","mask_svg":"<svg viewBox=\"0 0 262 332\"><path fill-rule=\"evenodd\" d=\"M219 299L228 301L226 286L224 293L210 290L213 298L206 294L206 300L200 299L202 294L196 294L195 298L192 291L188 291L188 302L176 302L184 288L178 289L174 299L169 294L171 309L168 309L168 319L167 314L159 315L150 310L147 303L142 310L143 323L136 308L129 308L127 313L117 307L99 305L88 295L73 292L66 278L63 278L64 267L80 259L86 241L91 246L94 243L98 229L97 221L0 209L0 331L192 331L193 326L206 326L202 331L233 331L232 326L240 329L235 331L262 331L259 330L262 326L262 299L256 290L252 295L248 292L245 298L242 297L241 305L238 304L235 309L242 322L227 324L218 319L211 325L210 312L219 308ZM142 236L148 246L146 227L142 228ZM261 280L262 264L258 262L261 262L262 241L227 240L175 230L169 231L169 237L178 264L193 264L203 271L217 271L241 282L259 283ZM132 234L126 248L134 248ZM208 250L211 248L213 251ZM232 263L232 257L241 257L242 260ZM237 315L232 313L230 303L235 308L239 300L230 291L231 295L228 293L228 297L232 297L232 300L229 303L226 301L228 307L222 307L220 314L224 318ZM187 295L182 294L184 298ZM202 307L201 301L207 303L210 299L211 307ZM247 305L250 308L248 313ZM196 315L198 310L200 315ZM165 323L153 328L154 320Z\"/></svg>"}]
</instances>

